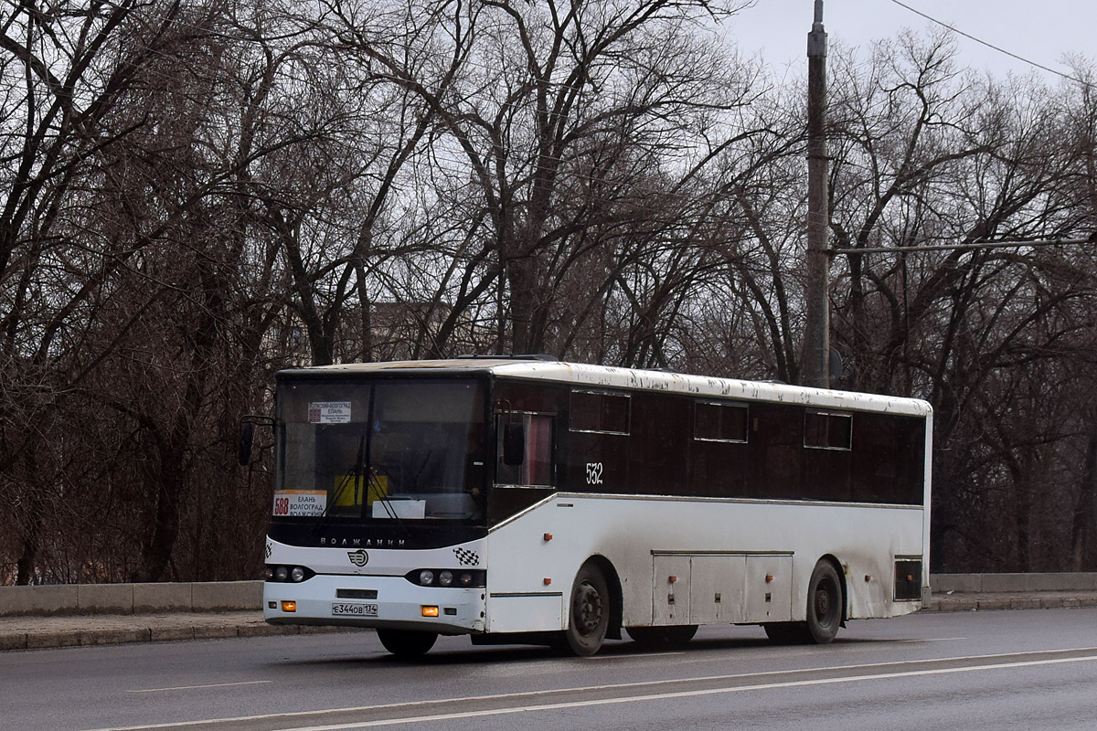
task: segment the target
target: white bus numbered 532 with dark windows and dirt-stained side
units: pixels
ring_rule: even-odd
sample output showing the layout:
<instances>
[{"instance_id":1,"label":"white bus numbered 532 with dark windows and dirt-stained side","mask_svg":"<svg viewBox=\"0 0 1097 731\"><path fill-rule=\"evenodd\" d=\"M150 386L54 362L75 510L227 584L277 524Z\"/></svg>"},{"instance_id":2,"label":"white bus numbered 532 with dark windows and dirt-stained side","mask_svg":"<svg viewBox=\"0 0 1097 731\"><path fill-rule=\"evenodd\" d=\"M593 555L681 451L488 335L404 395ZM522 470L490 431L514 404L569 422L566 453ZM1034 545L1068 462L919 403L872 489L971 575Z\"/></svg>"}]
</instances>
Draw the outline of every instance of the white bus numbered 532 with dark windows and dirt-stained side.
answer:
<instances>
[{"instance_id":1,"label":"white bus numbered 532 with dark windows and dirt-stained side","mask_svg":"<svg viewBox=\"0 0 1097 731\"><path fill-rule=\"evenodd\" d=\"M931 420L544 356L283 370L264 617L372 627L405 656L709 624L829 642L928 599Z\"/></svg>"}]
</instances>

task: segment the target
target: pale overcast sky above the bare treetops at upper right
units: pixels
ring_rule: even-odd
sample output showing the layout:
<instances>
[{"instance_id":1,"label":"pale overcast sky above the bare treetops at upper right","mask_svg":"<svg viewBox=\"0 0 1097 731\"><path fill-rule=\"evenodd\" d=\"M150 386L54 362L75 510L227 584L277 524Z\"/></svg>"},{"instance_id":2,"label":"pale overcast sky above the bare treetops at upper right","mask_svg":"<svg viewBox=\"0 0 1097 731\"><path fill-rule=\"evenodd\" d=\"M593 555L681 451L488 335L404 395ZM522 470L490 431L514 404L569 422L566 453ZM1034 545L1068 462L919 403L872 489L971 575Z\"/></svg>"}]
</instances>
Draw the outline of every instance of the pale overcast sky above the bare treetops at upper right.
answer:
<instances>
[{"instance_id":1,"label":"pale overcast sky above the bare treetops at upper right","mask_svg":"<svg viewBox=\"0 0 1097 731\"><path fill-rule=\"evenodd\" d=\"M1065 52L1097 59L1097 0L902 0L927 15L1049 68L1070 73ZM733 20L731 36L747 55L759 53L774 70L789 62L806 65L807 33L815 0L757 0ZM927 30L931 22L892 0L825 0L823 24L830 43L860 46L900 30ZM995 76L1029 73L1017 59L957 37L960 59ZM1049 82L1058 80L1037 70Z\"/></svg>"}]
</instances>

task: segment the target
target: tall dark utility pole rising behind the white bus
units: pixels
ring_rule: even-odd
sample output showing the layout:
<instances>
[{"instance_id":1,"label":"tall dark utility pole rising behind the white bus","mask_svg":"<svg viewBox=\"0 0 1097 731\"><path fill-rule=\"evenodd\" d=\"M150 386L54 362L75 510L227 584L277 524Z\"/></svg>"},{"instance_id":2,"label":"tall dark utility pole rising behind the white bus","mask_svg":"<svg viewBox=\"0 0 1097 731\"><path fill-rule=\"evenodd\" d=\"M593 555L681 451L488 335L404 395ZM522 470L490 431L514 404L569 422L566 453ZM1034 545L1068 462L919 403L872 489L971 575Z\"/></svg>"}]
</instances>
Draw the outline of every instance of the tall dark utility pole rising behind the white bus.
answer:
<instances>
[{"instance_id":1,"label":"tall dark utility pole rising behind the white bus","mask_svg":"<svg viewBox=\"0 0 1097 731\"><path fill-rule=\"evenodd\" d=\"M815 22L807 34L807 286L802 353L804 386L830 386L830 258L827 233L829 159L826 149L826 32L823 0L815 0Z\"/></svg>"}]
</instances>

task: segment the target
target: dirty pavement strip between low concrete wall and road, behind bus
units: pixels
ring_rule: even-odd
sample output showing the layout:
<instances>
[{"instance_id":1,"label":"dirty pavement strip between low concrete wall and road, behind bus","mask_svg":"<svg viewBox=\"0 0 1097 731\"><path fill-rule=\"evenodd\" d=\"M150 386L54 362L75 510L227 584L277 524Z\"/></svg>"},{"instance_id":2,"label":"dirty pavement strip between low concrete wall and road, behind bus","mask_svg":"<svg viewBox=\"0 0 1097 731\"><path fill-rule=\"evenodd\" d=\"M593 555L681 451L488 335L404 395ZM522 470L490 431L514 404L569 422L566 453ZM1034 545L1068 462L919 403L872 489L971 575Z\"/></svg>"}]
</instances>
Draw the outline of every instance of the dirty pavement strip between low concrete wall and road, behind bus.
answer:
<instances>
[{"instance_id":1,"label":"dirty pavement strip between low concrete wall and road, behind bus","mask_svg":"<svg viewBox=\"0 0 1097 731\"><path fill-rule=\"evenodd\" d=\"M2 608L2 596L8 589L0 587L0 608ZM986 612L1071 607L1097 607L1097 590L1011 592L946 590L935 593L930 606L923 612ZM369 630L273 626L263 621L262 614L258 609L54 614L49 616L0 615L0 650L37 650L126 642L166 642L340 631Z\"/></svg>"}]
</instances>

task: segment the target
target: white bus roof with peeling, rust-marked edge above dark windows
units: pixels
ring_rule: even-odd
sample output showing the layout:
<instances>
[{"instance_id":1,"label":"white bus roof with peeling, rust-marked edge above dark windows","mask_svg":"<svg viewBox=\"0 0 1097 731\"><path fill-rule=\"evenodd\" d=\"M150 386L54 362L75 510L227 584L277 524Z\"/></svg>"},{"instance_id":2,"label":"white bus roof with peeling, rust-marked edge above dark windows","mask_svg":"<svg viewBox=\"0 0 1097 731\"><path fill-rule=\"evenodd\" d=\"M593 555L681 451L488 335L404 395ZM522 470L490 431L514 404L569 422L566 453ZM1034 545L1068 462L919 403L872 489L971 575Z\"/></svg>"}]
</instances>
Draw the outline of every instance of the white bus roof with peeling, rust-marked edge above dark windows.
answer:
<instances>
[{"instance_id":1,"label":"white bus roof with peeling, rust-marked edge above dark windows","mask_svg":"<svg viewBox=\"0 0 1097 731\"><path fill-rule=\"evenodd\" d=\"M386 363L346 363L282 370L279 377L365 376L397 373L439 376L489 373L499 378L547 380L591 388L629 389L683 393L694 397L743 399L799 403L824 409L882 411L913 416L928 416L932 408L921 399L879 393L838 391L790 386L774 381L739 380L715 376L693 376L667 370L644 370L615 366L565 363L543 356L476 356L439 361L392 361Z\"/></svg>"}]
</instances>

